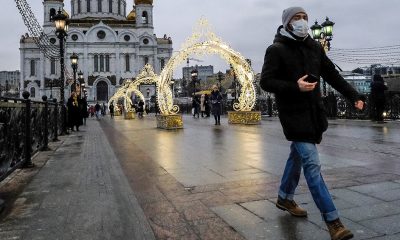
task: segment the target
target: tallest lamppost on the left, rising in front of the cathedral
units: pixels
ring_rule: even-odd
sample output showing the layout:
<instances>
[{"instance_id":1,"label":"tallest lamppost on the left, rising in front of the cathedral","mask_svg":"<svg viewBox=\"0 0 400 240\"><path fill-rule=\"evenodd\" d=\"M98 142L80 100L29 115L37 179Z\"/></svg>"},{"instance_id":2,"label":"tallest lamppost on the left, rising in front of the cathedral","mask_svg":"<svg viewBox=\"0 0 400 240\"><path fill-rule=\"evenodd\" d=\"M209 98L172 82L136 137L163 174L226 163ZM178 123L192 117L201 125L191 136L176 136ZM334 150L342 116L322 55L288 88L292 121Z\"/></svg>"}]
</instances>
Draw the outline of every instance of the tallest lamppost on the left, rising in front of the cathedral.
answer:
<instances>
[{"instance_id":1,"label":"tallest lamppost on the left, rising in front of the cathedral","mask_svg":"<svg viewBox=\"0 0 400 240\"><path fill-rule=\"evenodd\" d=\"M64 105L65 97L64 97L64 84L65 84L65 65L64 65L64 40L67 37L68 32L68 16L66 16L61 9L58 10L58 13L53 17L53 21L56 25L56 35L57 38L60 40L60 65L61 65L61 72L60 72L60 104L61 104L61 131L63 134L67 133L67 124L66 124L66 108Z\"/></svg>"}]
</instances>

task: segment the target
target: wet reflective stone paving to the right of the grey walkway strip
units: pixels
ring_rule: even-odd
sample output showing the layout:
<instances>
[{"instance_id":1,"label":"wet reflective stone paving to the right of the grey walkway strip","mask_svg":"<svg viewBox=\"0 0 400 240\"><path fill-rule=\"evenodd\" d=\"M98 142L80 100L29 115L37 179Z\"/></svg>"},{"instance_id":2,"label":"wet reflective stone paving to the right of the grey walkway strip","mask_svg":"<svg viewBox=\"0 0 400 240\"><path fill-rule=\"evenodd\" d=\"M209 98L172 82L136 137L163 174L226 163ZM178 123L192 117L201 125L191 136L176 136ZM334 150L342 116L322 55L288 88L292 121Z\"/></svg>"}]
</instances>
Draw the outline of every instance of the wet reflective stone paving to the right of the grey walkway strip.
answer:
<instances>
[{"instance_id":1,"label":"wet reflective stone paving to the right of the grey walkway strip","mask_svg":"<svg viewBox=\"0 0 400 240\"><path fill-rule=\"evenodd\" d=\"M107 135L113 131L127 145L120 161L157 239L330 239L304 176L295 200L309 218L294 218L275 206L290 145L276 120L254 127L225 121L214 128L183 117L185 128L174 132L155 129L152 117L119 122L123 125L106 122ZM393 132L389 135L400 143ZM396 144L384 141L381 131L367 125L336 124L318 146L324 179L355 239L384 234L361 222L400 219L400 213L384 207L400 206ZM379 198L384 191L388 194Z\"/></svg>"}]
</instances>

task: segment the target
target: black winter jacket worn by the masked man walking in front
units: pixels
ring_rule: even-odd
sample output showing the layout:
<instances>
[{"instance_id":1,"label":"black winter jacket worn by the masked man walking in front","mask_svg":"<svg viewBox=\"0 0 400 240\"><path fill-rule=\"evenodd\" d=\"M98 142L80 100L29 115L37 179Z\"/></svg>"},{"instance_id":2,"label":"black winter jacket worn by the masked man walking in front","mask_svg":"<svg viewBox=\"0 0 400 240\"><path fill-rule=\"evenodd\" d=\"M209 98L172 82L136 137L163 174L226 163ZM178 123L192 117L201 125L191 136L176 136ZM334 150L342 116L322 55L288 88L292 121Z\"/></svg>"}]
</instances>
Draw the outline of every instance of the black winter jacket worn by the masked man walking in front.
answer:
<instances>
[{"instance_id":1,"label":"black winter jacket worn by the masked man walking in front","mask_svg":"<svg viewBox=\"0 0 400 240\"><path fill-rule=\"evenodd\" d=\"M306 74L322 77L352 102L360 99L326 56L319 43L307 37L294 40L280 34L265 53L260 85L275 93L283 132L289 141L320 143L328 127L320 83L312 92L301 92L298 79Z\"/></svg>"}]
</instances>

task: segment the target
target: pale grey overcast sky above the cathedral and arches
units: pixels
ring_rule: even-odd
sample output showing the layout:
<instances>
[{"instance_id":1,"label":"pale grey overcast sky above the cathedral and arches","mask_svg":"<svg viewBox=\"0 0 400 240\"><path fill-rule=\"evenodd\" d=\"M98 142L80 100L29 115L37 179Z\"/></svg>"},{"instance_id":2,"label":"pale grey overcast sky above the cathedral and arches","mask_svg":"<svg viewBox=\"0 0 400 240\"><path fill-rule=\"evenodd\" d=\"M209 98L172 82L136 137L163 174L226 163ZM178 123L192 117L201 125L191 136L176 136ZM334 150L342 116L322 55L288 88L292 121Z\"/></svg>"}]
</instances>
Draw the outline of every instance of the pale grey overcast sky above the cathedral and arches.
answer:
<instances>
[{"instance_id":1,"label":"pale grey overcast sky above the cathedral and arches","mask_svg":"<svg viewBox=\"0 0 400 240\"><path fill-rule=\"evenodd\" d=\"M43 22L42 0L27 0L37 19ZM70 10L70 1L66 0ZM129 13L133 0L127 0ZM310 24L326 16L335 22L332 47L360 48L400 44L400 0L154 0L154 27L157 36L171 36L174 51L191 35L194 24L202 16L230 46L250 58L255 72L260 72L265 49L273 41L281 24L282 10L302 6ZM19 39L27 32L13 0L2 0L0 10L0 70L19 69ZM215 72L228 64L218 57L196 57L199 65L215 65ZM337 62L344 70L357 65ZM177 72L181 72L177 70Z\"/></svg>"}]
</instances>

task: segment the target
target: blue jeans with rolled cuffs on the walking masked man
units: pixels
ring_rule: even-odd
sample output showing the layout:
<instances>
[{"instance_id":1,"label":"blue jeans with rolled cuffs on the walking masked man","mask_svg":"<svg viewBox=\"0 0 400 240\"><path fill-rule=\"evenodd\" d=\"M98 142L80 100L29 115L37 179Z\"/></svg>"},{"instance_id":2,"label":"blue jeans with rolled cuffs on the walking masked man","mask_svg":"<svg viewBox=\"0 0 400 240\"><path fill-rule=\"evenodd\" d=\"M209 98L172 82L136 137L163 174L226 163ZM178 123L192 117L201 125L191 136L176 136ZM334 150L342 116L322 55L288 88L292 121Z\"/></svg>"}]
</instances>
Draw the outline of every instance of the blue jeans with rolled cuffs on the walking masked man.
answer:
<instances>
[{"instance_id":1,"label":"blue jeans with rolled cuffs on the walking masked man","mask_svg":"<svg viewBox=\"0 0 400 240\"><path fill-rule=\"evenodd\" d=\"M300 179L301 167L303 167L308 188L322 218L325 221L339 218L332 197L322 178L317 147L313 143L292 142L290 145L290 155L279 187L279 197L293 200Z\"/></svg>"}]
</instances>

